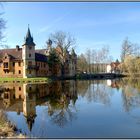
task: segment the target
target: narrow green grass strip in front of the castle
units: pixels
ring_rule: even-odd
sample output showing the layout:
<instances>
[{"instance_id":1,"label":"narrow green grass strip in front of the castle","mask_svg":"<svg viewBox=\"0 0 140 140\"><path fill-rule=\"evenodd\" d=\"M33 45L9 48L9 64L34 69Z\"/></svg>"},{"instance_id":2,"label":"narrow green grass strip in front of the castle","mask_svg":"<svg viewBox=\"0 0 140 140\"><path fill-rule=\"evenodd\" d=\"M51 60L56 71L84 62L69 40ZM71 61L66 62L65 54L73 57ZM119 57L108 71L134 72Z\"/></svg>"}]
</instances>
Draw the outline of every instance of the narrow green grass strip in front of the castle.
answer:
<instances>
[{"instance_id":1,"label":"narrow green grass strip in front of the castle","mask_svg":"<svg viewBox=\"0 0 140 140\"><path fill-rule=\"evenodd\" d=\"M0 78L0 83L46 83L50 82L51 79L45 77L37 78Z\"/></svg>"}]
</instances>

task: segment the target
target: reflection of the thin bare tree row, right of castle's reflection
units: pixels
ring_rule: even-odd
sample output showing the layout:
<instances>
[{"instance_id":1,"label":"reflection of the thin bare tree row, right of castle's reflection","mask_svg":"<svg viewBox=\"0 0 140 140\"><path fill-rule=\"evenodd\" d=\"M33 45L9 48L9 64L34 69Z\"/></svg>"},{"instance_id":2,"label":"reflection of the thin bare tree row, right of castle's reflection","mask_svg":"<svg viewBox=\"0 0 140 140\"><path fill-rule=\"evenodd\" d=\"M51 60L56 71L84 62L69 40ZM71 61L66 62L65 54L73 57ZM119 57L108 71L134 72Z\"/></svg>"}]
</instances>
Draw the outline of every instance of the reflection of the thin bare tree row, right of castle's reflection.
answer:
<instances>
[{"instance_id":1,"label":"reflection of the thin bare tree row, right of castle's reflection","mask_svg":"<svg viewBox=\"0 0 140 140\"><path fill-rule=\"evenodd\" d=\"M106 86L105 80L78 81L78 94L85 97L88 102L98 102L110 105L112 89Z\"/></svg>"}]
</instances>

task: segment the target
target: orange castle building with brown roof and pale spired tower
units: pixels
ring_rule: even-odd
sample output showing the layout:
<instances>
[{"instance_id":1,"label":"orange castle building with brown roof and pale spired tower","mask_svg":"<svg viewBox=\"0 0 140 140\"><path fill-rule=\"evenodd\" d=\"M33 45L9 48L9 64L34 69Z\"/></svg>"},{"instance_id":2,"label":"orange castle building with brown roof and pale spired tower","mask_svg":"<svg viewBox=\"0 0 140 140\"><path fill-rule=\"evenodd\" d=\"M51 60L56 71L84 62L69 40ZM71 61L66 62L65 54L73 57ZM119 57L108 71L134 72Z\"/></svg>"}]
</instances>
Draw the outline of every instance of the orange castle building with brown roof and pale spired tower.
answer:
<instances>
[{"instance_id":1,"label":"orange castle building with brown roof and pale spired tower","mask_svg":"<svg viewBox=\"0 0 140 140\"><path fill-rule=\"evenodd\" d=\"M36 44L31 36L30 29L28 28L24 43L22 47L18 45L14 49L0 50L0 77L47 77L52 75L52 71L48 65L49 49L36 50ZM51 41L48 42L48 48L51 47ZM57 48L56 48L57 51ZM66 57L68 60L62 66L58 64L56 69L56 76L61 76L62 71L66 76L76 75L76 59L77 56L72 51L68 52Z\"/></svg>"}]
</instances>

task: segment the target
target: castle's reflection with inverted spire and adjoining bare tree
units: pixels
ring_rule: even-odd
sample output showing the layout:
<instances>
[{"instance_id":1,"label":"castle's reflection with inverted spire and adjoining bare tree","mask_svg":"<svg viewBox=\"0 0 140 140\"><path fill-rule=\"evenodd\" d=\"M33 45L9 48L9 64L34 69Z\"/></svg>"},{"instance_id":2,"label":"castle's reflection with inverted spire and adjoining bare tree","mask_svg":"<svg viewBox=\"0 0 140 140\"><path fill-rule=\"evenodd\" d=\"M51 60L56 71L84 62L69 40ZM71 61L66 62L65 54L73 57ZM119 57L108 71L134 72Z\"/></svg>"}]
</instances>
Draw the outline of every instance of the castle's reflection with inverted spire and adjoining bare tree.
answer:
<instances>
[{"instance_id":1,"label":"castle's reflection with inverted spire and adjoining bare tree","mask_svg":"<svg viewBox=\"0 0 140 140\"><path fill-rule=\"evenodd\" d=\"M48 115L52 117L52 121L63 126L66 119L65 111L70 112L69 104L74 105L78 98L77 84L75 81L3 84L0 87L0 98L0 109L14 111L18 115L22 112L30 131L37 117L37 105L47 105Z\"/></svg>"}]
</instances>

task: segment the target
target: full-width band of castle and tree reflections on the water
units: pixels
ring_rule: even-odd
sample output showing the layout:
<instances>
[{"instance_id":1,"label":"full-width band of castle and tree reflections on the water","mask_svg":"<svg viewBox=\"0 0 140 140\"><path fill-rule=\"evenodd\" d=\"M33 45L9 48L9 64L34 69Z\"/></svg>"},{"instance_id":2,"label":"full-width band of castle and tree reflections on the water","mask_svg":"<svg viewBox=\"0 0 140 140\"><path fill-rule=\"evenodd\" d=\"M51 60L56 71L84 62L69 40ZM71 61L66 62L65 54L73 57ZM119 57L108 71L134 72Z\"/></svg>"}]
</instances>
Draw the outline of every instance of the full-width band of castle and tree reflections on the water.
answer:
<instances>
[{"instance_id":1,"label":"full-width band of castle and tree reflections on the water","mask_svg":"<svg viewBox=\"0 0 140 140\"><path fill-rule=\"evenodd\" d=\"M55 81L50 84L3 84L0 86L0 108L17 112L18 115L23 113L27 126L32 131L33 124L40 115L36 112L36 106L46 106L43 119L49 116L53 124L63 128L77 119L76 103L79 97L85 98L88 103L110 106L115 89L121 91L126 112L140 107L140 80L118 79Z\"/></svg>"}]
</instances>

